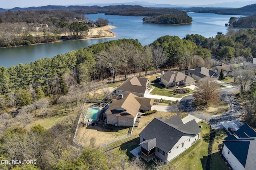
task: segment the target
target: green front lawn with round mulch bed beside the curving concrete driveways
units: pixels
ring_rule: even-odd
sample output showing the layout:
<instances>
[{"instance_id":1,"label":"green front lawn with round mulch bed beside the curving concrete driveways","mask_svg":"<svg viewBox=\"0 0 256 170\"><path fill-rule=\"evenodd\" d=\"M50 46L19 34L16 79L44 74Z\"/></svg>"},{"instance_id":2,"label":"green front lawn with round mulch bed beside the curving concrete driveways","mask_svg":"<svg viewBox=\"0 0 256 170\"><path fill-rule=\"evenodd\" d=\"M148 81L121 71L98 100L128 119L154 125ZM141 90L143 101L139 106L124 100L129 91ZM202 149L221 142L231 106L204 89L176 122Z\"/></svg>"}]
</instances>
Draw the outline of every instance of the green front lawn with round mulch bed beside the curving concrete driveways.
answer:
<instances>
[{"instance_id":1,"label":"green front lawn with round mulch bed beside the curving concrete driveways","mask_svg":"<svg viewBox=\"0 0 256 170\"><path fill-rule=\"evenodd\" d=\"M194 90L191 90L190 88L185 88L189 90L189 93L182 94L182 95L173 95L172 88L164 88L160 86L158 83L152 83L151 86L154 86L154 89L150 94L160 95L160 96L168 96L168 97L174 97L174 98L181 98L182 96L186 96L188 94L193 94Z\"/></svg>"}]
</instances>

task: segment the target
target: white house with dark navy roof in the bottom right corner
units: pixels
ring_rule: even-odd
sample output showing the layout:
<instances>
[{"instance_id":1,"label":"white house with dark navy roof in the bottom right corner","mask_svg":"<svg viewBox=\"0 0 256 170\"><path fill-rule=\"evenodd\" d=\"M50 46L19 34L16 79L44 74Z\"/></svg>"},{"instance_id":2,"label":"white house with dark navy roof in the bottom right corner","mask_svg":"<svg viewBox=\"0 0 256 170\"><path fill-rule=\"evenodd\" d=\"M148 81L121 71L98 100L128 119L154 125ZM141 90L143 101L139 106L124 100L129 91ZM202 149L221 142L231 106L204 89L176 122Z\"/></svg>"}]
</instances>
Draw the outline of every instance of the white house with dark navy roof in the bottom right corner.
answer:
<instances>
[{"instance_id":1,"label":"white house with dark navy roof in the bottom right corner","mask_svg":"<svg viewBox=\"0 0 256 170\"><path fill-rule=\"evenodd\" d=\"M222 154L233 170L256 169L256 132L247 124L223 141Z\"/></svg>"}]
</instances>

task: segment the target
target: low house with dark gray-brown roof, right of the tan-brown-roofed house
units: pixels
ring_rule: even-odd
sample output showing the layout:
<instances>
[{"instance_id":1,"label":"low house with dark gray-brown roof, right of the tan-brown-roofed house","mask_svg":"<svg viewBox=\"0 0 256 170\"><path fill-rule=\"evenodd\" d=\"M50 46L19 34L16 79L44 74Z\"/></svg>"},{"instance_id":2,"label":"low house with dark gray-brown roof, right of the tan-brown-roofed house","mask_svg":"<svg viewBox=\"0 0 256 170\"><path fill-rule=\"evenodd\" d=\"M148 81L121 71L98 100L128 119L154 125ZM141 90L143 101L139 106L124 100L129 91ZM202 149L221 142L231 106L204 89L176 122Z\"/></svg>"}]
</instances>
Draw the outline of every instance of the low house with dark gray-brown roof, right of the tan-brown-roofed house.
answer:
<instances>
[{"instance_id":1,"label":"low house with dark gray-brown roof, right of the tan-brown-roofed house","mask_svg":"<svg viewBox=\"0 0 256 170\"><path fill-rule=\"evenodd\" d=\"M185 74L194 78L195 80L200 80L205 77L212 77L214 80L218 80L220 76L218 73L209 70L205 67L198 67L191 70L185 70Z\"/></svg>"}]
</instances>

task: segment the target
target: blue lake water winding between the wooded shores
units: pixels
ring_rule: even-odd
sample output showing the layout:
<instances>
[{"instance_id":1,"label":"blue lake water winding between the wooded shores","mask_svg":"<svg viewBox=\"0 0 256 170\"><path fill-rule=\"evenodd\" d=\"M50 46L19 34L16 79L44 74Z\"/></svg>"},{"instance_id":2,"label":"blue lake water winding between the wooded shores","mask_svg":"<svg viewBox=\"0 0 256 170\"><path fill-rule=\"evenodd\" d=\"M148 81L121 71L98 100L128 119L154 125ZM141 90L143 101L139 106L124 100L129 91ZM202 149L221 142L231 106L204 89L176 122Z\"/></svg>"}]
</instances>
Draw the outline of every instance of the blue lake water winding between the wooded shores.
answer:
<instances>
[{"instance_id":1,"label":"blue lake water winding between the wooded shores","mask_svg":"<svg viewBox=\"0 0 256 170\"><path fill-rule=\"evenodd\" d=\"M113 16L104 14L85 15L90 20L96 21L98 18L108 19L113 22L115 29L111 29L117 38L89 39L77 41L61 41L58 43L47 43L30 45L23 47L0 48L0 66L9 67L20 63L31 63L39 58L54 57L69 51L87 47L89 45L110 41L114 39L138 39L142 45L148 45L164 35L176 35L184 38L187 34L199 34L204 37L215 37L217 32L226 34L230 17L240 17L238 15L217 15L189 12L193 18L191 24L184 25L162 25L142 23L143 17Z\"/></svg>"}]
</instances>

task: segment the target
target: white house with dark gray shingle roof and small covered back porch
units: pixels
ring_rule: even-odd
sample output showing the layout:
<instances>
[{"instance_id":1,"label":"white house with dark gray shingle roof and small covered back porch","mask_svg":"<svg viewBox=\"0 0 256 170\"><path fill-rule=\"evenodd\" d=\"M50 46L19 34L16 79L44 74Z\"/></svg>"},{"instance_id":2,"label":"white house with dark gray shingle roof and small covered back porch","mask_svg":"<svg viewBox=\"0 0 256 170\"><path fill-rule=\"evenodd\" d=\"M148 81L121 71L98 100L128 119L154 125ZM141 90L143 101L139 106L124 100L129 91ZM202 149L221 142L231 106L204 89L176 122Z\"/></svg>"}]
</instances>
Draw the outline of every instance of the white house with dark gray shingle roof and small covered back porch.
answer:
<instances>
[{"instance_id":1,"label":"white house with dark gray shingle roof and small covered back porch","mask_svg":"<svg viewBox=\"0 0 256 170\"><path fill-rule=\"evenodd\" d=\"M194 119L184 124L178 115L168 120L154 118L139 134L141 157L150 161L156 156L168 162L198 141L200 133Z\"/></svg>"}]
</instances>

